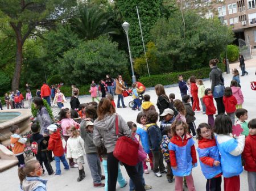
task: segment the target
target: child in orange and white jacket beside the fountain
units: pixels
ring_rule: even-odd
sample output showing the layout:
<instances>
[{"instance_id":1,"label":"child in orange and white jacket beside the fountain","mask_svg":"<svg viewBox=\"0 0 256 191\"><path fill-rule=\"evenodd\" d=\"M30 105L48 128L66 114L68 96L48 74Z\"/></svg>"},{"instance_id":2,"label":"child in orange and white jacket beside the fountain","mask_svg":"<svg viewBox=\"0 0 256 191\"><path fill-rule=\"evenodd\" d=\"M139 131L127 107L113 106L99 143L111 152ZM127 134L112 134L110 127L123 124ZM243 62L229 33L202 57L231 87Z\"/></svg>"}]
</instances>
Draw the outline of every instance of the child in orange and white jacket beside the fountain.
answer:
<instances>
[{"instance_id":1,"label":"child in orange and white jacket beside the fountain","mask_svg":"<svg viewBox=\"0 0 256 191\"><path fill-rule=\"evenodd\" d=\"M11 150L13 151L13 154L18 159L18 167L20 165L25 164L24 161L24 144L27 142L26 138L22 138L19 135L19 128L16 125L12 125L10 128L11 131Z\"/></svg>"}]
</instances>

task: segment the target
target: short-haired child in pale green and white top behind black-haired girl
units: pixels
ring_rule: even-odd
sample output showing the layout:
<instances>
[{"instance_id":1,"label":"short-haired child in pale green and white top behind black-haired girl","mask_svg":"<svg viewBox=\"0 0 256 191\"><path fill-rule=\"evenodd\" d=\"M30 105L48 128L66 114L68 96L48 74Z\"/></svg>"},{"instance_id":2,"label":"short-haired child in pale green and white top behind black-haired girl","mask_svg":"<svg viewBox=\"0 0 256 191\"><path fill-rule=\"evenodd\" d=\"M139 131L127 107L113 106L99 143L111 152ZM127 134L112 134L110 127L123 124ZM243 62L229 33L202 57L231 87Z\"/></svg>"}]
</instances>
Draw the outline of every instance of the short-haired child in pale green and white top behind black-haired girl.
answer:
<instances>
[{"instance_id":1,"label":"short-haired child in pale green and white top behind black-haired girl","mask_svg":"<svg viewBox=\"0 0 256 191\"><path fill-rule=\"evenodd\" d=\"M241 128L243 129L241 134L245 136L249 135L248 123L246 122L248 119L247 113L246 109L237 109L236 111L236 117L238 118L236 125L241 125Z\"/></svg>"}]
</instances>

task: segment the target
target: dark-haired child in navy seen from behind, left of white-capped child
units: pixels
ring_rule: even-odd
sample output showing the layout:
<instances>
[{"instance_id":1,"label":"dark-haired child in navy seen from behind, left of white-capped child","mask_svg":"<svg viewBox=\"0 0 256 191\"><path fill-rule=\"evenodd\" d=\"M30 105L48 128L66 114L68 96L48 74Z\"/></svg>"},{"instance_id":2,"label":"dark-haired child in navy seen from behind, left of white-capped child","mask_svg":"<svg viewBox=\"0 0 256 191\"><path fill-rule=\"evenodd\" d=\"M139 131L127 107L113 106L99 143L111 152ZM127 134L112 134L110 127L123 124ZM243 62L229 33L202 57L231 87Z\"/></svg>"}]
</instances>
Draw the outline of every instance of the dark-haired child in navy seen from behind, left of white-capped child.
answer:
<instances>
[{"instance_id":1,"label":"dark-haired child in navy seen from behind, left of white-capped child","mask_svg":"<svg viewBox=\"0 0 256 191\"><path fill-rule=\"evenodd\" d=\"M156 177L161 177L161 173L167 173L167 171L166 167L164 167L163 164L163 154L160 148L160 144L162 142L162 135L160 132L160 128L156 124L157 121L158 113L156 113L155 111L149 111L147 115L146 130L148 134L148 143L153 153L153 171Z\"/></svg>"}]
</instances>

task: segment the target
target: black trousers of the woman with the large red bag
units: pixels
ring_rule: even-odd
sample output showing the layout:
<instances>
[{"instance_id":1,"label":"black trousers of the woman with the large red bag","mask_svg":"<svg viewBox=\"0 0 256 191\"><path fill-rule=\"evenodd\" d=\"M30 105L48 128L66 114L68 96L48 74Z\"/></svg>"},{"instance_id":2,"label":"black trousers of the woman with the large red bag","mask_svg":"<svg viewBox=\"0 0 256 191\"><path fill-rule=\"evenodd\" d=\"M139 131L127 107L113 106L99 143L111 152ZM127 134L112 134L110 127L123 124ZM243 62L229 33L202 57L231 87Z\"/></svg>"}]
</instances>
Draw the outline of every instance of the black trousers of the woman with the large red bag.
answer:
<instances>
[{"instance_id":1,"label":"black trousers of the woman with the large red bag","mask_svg":"<svg viewBox=\"0 0 256 191\"><path fill-rule=\"evenodd\" d=\"M119 160L114 157L113 152L108 153L107 165L108 165L108 190L115 191L115 186L117 185L117 175L118 175L118 163ZM136 191L145 191L142 184L141 176L135 166L130 166L123 164L125 166L126 172L128 173L131 180L135 185Z\"/></svg>"}]
</instances>

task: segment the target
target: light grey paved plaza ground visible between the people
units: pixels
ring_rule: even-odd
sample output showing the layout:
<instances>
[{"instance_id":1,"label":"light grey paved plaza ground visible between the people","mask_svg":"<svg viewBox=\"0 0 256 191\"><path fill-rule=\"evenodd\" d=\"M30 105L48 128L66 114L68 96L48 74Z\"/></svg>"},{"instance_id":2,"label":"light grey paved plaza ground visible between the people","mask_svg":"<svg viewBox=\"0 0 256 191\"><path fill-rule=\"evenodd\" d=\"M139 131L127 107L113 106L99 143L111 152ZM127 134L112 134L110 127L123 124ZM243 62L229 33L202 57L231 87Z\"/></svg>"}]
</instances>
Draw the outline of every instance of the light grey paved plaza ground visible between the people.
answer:
<instances>
[{"instance_id":1,"label":"light grey paved plaza ground visible between the people","mask_svg":"<svg viewBox=\"0 0 256 191\"><path fill-rule=\"evenodd\" d=\"M240 77L241 80L241 90L243 93L243 96L245 97L245 102L243 103L243 108L247 109L249 111L249 120L256 117L256 108L255 108L255 100L256 100L256 91L252 91L250 89L250 82L256 80L255 76L255 70L256 70L256 59L251 59L249 61L246 61L246 68L249 72L249 75L245 77ZM238 67L238 63L234 63L230 65L230 71L232 68ZM240 70L241 72L241 70ZM195 74L196 75L196 74ZM232 80L232 74L223 74L225 79L225 86L230 85L230 81ZM209 80L206 80L204 82L204 85L206 88L210 87ZM180 97L180 91L179 87L171 87L166 88L166 94L169 95L170 93L174 93L176 95L176 99L181 99ZM146 91L145 94L149 94L151 96L151 101L156 104L157 96L155 94L155 91ZM117 103L117 96L114 97L115 103ZM117 113L123 116L126 121L136 121L138 111L132 111L131 108L128 107L129 101L131 101L131 96L125 98L125 105L127 105L127 108L117 108ZM80 103L86 103L91 101L90 97L82 97L80 98ZM65 104L65 106L70 107L69 100L68 103ZM207 122L207 115L202 113L196 113L196 126L198 126L201 122ZM194 139L196 141L196 139ZM197 142L197 141L196 141ZM197 147L197 143L196 143ZM197 161L198 161L198 155L197 155ZM55 168L55 162L53 161L52 167ZM63 166L61 167L63 169ZM129 177L125 171L124 167L121 167L123 176L129 180ZM102 168L103 171L103 168ZM53 191L53 190L61 190L61 191L70 191L70 190L76 190L76 191L85 191L85 190L104 190L104 188L93 188L93 181L92 177L90 175L89 167L87 162L85 162L85 174L86 177L81 182L77 182L76 179L79 175L77 168L72 168L69 171L62 170L61 176L48 176L45 175L43 179L48 180L47 184L47 190ZM205 183L206 179L203 176L203 173L201 172L200 164L198 161L198 166L193 169L192 171L193 179L195 182L195 188L197 191L203 191L205 190ZM154 176L154 173L150 171L150 174L144 175L144 179L146 181L146 184L152 185L151 190L161 191L161 190L174 190L175 189L175 182L168 183L166 176L163 174L162 177L156 177ZM247 189L247 172L243 171L243 173L240 176L241 179L241 190L248 190ZM5 172L0 173L0 190L5 191L14 191L18 190L19 186L19 179L18 179L18 173L17 173L17 167L13 167ZM223 188L223 181L222 181L222 188ZM129 185L127 185L125 188L119 188L119 185L117 184L117 190L129 190ZM187 189L185 189L187 190ZM224 190L224 189L223 189Z\"/></svg>"}]
</instances>

